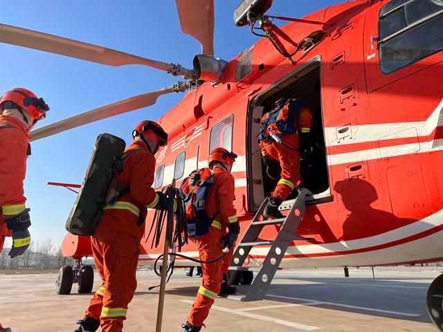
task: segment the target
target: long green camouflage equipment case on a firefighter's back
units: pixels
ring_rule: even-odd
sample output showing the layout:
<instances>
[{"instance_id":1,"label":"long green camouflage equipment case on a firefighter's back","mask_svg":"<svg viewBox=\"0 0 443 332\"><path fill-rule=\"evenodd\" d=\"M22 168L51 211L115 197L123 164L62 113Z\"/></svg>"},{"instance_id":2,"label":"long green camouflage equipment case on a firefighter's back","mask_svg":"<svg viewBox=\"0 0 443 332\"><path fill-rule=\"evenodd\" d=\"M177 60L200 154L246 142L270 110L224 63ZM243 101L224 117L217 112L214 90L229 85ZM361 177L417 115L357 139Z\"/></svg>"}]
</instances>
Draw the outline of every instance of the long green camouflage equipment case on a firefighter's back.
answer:
<instances>
[{"instance_id":1,"label":"long green camouflage equipment case on a firefighter's back","mask_svg":"<svg viewBox=\"0 0 443 332\"><path fill-rule=\"evenodd\" d=\"M82 187L66 221L65 228L71 234L93 235L105 205L115 203L124 190L118 181L114 181L110 190L109 186L123 169L125 146L123 139L109 133L98 136Z\"/></svg>"}]
</instances>

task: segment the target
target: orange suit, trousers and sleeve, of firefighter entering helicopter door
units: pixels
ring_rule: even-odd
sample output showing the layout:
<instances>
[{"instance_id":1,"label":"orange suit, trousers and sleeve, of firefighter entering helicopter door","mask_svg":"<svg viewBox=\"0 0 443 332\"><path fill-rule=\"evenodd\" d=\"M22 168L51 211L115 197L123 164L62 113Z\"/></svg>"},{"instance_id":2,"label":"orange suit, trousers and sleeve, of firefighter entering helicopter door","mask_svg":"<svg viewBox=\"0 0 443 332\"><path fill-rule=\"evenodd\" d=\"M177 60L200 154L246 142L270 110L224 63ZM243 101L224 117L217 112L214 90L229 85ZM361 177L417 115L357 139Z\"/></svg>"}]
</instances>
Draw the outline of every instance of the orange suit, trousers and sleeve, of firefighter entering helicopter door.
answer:
<instances>
[{"instance_id":1,"label":"orange suit, trousers and sleeve, of firefighter entering helicopter door","mask_svg":"<svg viewBox=\"0 0 443 332\"><path fill-rule=\"evenodd\" d=\"M302 107L298 112L296 127L299 133L311 131L312 111ZM300 144L298 133L290 133L281 137L282 143L267 139L260 142L262 154L271 160L278 161L282 168L280 180L275 186L271 196L278 197L284 201L297 185L300 185ZM289 145L289 147L287 147Z\"/></svg>"}]
</instances>

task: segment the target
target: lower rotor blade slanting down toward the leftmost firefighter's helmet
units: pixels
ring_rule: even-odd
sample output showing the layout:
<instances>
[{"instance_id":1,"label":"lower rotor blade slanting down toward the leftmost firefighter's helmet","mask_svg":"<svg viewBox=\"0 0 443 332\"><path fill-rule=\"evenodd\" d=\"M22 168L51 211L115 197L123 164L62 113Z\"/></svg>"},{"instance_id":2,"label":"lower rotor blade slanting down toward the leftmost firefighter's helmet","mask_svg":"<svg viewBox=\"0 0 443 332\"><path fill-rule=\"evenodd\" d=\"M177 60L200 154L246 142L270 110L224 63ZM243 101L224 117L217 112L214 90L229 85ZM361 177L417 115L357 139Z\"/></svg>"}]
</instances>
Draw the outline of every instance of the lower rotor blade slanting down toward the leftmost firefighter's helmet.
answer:
<instances>
[{"instance_id":1,"label":"lower rotor blade slanting down toward the leftmost firefighter's helmet","mask_svg":"<svg viewBox=\"0 0 443 332\"><path fill-rule=\"evenodd\" d=\"M71 118L66 118L59 122L55 122L53 124L49 124L48 126L31 131L31 141L39 140L40 138L45 138L54 135L55 133L60 133L75 127L80 127L83 124L110 118L111 116L117 116L118 114L134 111L136 109L142 109L143 107L155 104L160 95L174 91L186 90L185 86L187 87L185 83L173 84L158 91L145 93L143 95L136 95L135 97L120 100L119 102L114 102L112 104L99 107L98 109L92 109L91 111L80 113L76 116L71 116Z\"/></svg>"}]
</instances>

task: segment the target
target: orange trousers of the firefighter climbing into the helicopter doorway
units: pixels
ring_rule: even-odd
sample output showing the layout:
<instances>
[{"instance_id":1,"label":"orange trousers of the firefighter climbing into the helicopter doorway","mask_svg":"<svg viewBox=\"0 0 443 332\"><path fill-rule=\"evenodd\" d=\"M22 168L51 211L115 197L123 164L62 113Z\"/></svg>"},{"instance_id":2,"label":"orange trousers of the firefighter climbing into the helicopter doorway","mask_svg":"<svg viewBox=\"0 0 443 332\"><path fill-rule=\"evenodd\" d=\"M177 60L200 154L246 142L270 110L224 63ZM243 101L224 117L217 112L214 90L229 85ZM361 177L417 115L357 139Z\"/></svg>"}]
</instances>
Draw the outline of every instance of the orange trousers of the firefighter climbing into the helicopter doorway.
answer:
<instances>
[{"instance_id":1,"label":"orange trousers of the firefighter climbing into the helicopter doorway","mask_svg":"<svg viewBox=\"0 0 443 332\"><path fill-rule=\"evenodd\" d=\"M298 149L298 137L296 135L283 136L282 140ZM261 149L268 158L280 163L282 168L281 178L271 196L278 197L284 201L291 194L294 187L300 184L300 154L298 151L289 149L277 142L263 145Z\"/></svg>"}]
</instances>

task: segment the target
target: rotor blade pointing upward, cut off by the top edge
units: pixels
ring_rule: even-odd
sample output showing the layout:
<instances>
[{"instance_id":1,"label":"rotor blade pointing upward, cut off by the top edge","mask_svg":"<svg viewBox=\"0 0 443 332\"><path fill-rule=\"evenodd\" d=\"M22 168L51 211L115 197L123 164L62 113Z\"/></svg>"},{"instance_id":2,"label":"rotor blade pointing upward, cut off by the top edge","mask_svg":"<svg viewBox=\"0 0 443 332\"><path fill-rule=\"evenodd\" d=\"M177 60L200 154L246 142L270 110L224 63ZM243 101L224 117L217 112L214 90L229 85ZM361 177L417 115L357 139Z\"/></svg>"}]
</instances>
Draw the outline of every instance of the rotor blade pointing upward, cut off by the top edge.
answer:
<instances>
[{"instance_id":1,"label":"rotor blade pointing upward, cut off by the top edge","mask_svg":"<svg viewBox=\"0 0 443 332\"><path fill-rule=\"evenodd\" d=\"M214 55L214 0L175 0L183 33L197 39L201 53Z\"/></svg>"}]
</instances>

